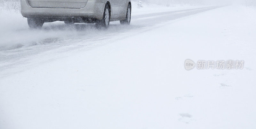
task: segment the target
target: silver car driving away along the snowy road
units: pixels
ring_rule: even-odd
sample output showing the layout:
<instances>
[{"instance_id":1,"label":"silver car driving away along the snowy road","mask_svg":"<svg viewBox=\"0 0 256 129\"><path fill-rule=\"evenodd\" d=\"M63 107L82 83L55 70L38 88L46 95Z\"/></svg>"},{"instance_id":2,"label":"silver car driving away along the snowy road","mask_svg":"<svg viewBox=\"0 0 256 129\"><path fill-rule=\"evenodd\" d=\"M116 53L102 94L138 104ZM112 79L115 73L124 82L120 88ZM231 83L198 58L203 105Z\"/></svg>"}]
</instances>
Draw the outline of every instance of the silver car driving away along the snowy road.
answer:
<instances>
[{"instance_id":1,"label":"silver car driving away along the snowy road","mask_svg":"<svg viewBox=\"0 0 256 129\"><path fill-rule=\"evenodd\" d=\"M96 23L107 28L109 22L131 22L131 0L21 0L21 14L30 28L41 28L45 22L65 24Z\"/></svg>"}]
</instances>

